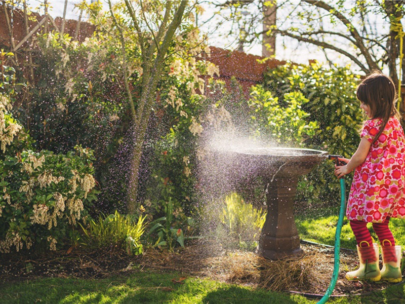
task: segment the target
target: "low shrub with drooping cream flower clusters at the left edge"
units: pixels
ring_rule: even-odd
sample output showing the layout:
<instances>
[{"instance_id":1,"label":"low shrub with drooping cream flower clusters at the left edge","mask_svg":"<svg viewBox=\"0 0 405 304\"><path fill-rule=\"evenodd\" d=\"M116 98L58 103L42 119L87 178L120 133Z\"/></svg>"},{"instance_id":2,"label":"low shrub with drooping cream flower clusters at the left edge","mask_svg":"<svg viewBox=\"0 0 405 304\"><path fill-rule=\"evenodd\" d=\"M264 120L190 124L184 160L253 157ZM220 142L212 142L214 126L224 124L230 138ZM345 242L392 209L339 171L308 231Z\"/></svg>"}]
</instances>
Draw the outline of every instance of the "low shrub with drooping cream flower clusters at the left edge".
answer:
<instances>
[{"instance_id":1,"label":"low shrub with drooping cream flower clusters at the left edge","mask_svg":"<svg viewBox=\"0 0 405 304\"><path fill-rule=\"evenodd\" d=\"M76 146L56 155L24 147L29 136L9 114L8 96L0 100L0 252L44 244L56 250L95 199L92 151Z\"/></svg>"}]
</instances>

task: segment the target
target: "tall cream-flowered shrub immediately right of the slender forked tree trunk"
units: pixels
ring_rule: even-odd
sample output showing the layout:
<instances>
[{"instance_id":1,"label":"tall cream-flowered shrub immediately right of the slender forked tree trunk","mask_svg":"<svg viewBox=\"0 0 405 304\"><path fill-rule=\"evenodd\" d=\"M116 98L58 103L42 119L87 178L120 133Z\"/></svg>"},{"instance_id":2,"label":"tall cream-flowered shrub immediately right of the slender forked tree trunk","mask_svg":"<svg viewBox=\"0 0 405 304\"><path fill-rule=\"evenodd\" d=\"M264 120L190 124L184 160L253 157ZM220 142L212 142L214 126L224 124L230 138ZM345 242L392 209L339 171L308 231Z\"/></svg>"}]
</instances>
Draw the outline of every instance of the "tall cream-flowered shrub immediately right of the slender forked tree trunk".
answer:
<instances>
[{"instance_id":1,"label":"tall cream-flowered shrub immediately right of the slender forked tree trunk","mask_svg":"<svg viewBox=\"0 0 405 304\"><path fill-rule=\"evenodd\" d=\"M201 114L207 109L205 90L201 75L212 77L218 74L218 67L212 63L193 58L175 58L167 68L163 80L159 108L159 119L169 128L156 140L153 156L150 157L151 179L147 185L147 200L144 207L153 219L164 218L164 227L188 228L190 217L197 213L195 199L196 185L196 147L203 126ZM165 124L163 124L165 125ZM166 134L165 134L166 133ZM168 206L171 206L170 208ZM169 208L169 209L168 209ZM168 214L171 210L172 214ZM188 227L186 226L188 225ZM165 240L171 248L172 235L178 239L174 230L166 228ZM174 229L174 228L172 228Z\"/></svg>"}]
</instances>

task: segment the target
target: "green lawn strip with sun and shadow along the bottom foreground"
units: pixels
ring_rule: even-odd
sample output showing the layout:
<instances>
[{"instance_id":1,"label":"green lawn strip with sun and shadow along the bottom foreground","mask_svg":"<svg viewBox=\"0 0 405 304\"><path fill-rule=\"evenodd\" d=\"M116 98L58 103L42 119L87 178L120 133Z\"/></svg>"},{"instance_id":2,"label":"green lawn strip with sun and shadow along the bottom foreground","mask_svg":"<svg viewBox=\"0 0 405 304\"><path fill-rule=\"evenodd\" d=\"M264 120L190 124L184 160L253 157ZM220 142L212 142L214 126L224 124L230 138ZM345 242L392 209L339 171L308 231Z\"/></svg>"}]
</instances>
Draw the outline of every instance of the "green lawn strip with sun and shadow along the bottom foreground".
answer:
<instances>
[{"instance_id":1,"label":"green lawn strip with sun and shadow along the bottom foreground","mask_svg":"<svg viewBox=\"0 0 405 304\"><path fill-rule=\"evenodd\" d=\"M328 303L405 303L405 285ZM46 278L0 286L0 303L316 303L301 295L219 283L178 273L138 272L109 279Z\"/></svg>"}]
</instances>

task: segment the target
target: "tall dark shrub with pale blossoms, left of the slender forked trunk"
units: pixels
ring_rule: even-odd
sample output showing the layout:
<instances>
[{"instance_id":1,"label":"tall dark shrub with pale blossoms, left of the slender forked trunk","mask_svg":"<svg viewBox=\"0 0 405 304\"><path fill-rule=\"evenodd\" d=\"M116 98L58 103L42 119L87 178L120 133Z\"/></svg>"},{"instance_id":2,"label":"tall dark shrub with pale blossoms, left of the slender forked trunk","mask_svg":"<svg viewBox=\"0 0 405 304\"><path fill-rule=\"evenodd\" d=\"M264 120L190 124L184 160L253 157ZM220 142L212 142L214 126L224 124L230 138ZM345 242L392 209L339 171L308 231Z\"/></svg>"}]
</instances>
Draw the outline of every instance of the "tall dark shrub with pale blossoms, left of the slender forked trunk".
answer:
<instances>
[{"instance_id":1,"label":"tall dark shrub with pale blossoms, left of the slender forked trunk","mask_svg":"<svg viewBox=\"0 0 405 304\"><path fill-rule=\"evenodd\" d=\"M37 36L37 43L35 82L26 99L15 103L14 117L38 150L67 153L78 143L91 148L101 191L94 210L125 209L131 117L116 44L100 36L78 43L57 32ZM135 90L137 77L135 70Z\"/></svg>"}]
</instances>

